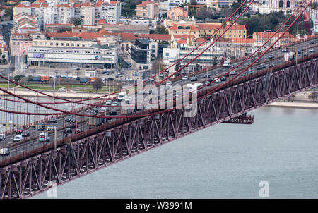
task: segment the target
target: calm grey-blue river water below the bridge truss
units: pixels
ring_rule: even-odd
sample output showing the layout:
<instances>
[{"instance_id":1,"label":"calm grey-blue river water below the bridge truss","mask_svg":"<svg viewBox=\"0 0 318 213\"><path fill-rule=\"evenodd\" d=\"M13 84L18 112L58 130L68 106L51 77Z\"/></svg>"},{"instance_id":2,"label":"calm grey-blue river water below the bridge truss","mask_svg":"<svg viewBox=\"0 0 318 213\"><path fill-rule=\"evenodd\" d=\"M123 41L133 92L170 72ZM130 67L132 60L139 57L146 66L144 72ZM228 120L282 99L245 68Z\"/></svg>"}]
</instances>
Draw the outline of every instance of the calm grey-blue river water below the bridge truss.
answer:
<instances>
[{"instance_id":1,"label":"calm grey-blue river water below the bridge truss","mask_svg":"<svg viewBox=\"0 0 318 213\"><path fill-rule=\"evenodd\" d=\"M252 114L61 185L57 198L259 198L260 181L270 198L318 198L318 110Z\"/></svg>"}]
</instances>

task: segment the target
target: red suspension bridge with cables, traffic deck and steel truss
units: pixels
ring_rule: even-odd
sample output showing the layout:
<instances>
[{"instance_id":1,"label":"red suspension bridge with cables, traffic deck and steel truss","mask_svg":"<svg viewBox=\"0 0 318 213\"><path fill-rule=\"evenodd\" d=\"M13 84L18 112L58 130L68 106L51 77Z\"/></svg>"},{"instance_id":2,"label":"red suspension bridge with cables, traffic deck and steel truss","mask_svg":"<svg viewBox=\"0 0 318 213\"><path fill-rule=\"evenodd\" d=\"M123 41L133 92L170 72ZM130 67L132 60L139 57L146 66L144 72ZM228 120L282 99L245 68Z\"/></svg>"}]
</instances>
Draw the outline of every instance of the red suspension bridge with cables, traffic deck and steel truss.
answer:
<instances>
[{"instance_id":1,"label":"red suspension bridge with cables, traffic deck and steel truss","mask_svg":"<svg viewBox=\"0 0 318 213\"><path fill-rule=\"evenodd\" d=\"M120 103L117 100L120 91L88 99L66 99L0 75L8 83L35 94L23 97L19 89L0 88L4 94L0 99L0 134L6 135L0 141L0 197L25 198L42 193L52 182L61 185L216 123L253 123L254 117L246 116L247 112L317 87L318 38L285 37L312 2L305 0L249 56L231 61L232 66L201 63L196 71L186 74L189 65L206 57L204 52L237 26L235 23L252 2L246 5L247 1L243 1L220 25L225 28L223 33L216 35L216 30L182 59L151 76L182 63L163 80L146 86L157 91L151 94L150 101L149 94L139 94L146 88L142 83L150 78L125 88L141 88L136 91L140 96L129 92L136 95L137 101L131 96L127 104L127 99ZM233 20L239 9L242 12ZM282 39L286 45L278 48L276 44ZM203 51L199 47L204 47ZM296 54L286 60L282 49ZM188 56L194 57L183 63ZM195 90L178 89L187 85L184 76L195 76ZM46 97L45 101L40 95ZM16 139L14 133L24 133L23 139ZM39 142L39 133L49 140Z\"/></svg>"}]
</instances>

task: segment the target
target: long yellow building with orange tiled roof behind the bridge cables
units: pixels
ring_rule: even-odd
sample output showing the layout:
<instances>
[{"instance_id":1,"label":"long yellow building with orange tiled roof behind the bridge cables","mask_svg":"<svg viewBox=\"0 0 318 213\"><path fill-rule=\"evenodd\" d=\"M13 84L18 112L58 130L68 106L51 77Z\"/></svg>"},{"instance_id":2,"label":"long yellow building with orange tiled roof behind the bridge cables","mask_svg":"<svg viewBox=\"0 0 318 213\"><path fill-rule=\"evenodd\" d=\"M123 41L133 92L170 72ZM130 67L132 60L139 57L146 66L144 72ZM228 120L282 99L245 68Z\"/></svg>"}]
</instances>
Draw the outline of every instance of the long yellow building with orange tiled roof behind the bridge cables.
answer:
<instances>
[{"instance_id":1,"label":"long yellow building with orange tiled roof behind the bridge cables","mask_svg":"<svg viewBox=\"0 0 318 213\"><path fill-rule=\"evenodd\" d=\"M218 37L218 35L221 35L228 27L227 25L230 25L230 23L227 23L227 25L223 25L222 28L220 28L220 25L222 23L205 23L205 24L197 24L197 28L199 28L199 35L200 37L208 37L212 35L214 32L216 32L213 37ZM218 28L220 28L218 30ZM218 31L217 31L218 30ZM239 25L237 23L233 24L232 27L228 31L225 32L223 35L225 38L246 38L247 37L247 30L245 28L245 25Z\"/></svg>"}]
</instances>

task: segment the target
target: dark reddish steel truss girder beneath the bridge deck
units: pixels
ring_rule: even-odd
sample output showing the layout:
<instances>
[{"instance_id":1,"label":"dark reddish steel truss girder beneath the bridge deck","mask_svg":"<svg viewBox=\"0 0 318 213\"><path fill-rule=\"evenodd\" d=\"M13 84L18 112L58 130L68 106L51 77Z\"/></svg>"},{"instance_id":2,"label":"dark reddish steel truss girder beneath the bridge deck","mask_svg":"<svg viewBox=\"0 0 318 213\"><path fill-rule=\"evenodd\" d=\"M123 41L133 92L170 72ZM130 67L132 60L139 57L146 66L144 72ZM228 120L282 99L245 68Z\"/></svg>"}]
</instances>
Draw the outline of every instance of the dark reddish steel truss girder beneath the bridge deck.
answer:
<instances>
[{"instance_id":1,"label":"dark reddish steel truss girder beneath the bridge deck","mask_svg":"<svg viewBox=\"0 0 318 213\"><path fill-rule=\"evenodd\" d=\"M233 85L184 109L139 118L0 169L0 198L25 198L318 84L318 59ZM266 83L266 80L269 82Z\"/></svg>"}]
</instances>

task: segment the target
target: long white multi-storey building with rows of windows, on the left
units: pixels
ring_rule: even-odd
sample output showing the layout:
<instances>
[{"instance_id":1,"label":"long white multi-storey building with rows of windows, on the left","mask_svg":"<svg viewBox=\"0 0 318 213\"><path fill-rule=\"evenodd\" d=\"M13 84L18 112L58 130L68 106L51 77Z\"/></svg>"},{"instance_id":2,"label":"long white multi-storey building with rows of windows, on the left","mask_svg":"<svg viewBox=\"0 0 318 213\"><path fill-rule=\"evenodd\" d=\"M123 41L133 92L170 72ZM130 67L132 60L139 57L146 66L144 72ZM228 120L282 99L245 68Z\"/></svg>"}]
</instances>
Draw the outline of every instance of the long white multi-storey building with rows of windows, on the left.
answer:
<instances>
[{"instance_id":1,"label":"long white multi-storey building with rows of windows, on the left","mask_svg":"<svg viewBox=\"0 0 318 213\"><path fill-rule=\"evenodd\" d=\"M28 65L81 68L115 68L118 46L100 44L96 40L69 37L69 39L33 39L28 47Z\"/></svg>"}]
</instances>

